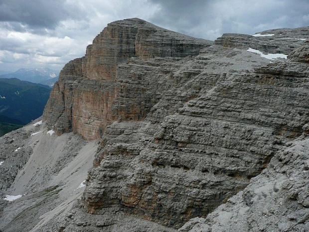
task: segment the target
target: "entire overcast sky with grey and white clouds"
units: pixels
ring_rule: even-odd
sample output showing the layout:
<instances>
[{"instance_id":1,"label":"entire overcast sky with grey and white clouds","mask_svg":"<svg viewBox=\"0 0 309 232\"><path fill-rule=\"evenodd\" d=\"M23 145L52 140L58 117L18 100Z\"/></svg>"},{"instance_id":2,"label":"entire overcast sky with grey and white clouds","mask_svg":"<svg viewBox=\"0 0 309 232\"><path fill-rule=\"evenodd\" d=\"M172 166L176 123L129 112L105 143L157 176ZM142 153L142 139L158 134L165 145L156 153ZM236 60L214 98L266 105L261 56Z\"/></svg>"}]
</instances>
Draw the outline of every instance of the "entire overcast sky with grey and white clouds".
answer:
<instances>
[{"instance_id":1,"label":"entire overcast sky with grey and white clouds","mask_svg":"<svg viewBox=\"0 0 309 232\"><path fill-rule=\"evenodd\" d=\"M0 0L0 70L60 70L107 23L131 17L214 40L309 26L309 0Z\"/></svg>"}]
</instances>

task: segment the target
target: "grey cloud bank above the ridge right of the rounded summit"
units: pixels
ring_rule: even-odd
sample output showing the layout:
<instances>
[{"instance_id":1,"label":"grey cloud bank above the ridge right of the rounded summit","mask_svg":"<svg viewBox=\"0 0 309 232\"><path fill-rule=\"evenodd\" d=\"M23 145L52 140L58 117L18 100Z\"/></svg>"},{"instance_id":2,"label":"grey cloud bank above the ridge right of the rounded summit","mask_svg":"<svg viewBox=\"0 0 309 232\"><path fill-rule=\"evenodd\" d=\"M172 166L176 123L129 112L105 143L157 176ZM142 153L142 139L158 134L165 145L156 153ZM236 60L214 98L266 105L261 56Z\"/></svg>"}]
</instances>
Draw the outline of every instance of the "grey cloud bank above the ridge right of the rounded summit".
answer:
<instances>
[{"instance_id":1,"label":"grey cloud bank above the ridge right of the rounded summit","mask_svg":"<svg viewBox=\"0 0 309 232\"><path fill-rule=\"evenodd\" d=\"M309 25L308 0L149 0L161 9L152 22L192 36L215 39L225 32L252 34Z\"/></svg>"}]
</instances>

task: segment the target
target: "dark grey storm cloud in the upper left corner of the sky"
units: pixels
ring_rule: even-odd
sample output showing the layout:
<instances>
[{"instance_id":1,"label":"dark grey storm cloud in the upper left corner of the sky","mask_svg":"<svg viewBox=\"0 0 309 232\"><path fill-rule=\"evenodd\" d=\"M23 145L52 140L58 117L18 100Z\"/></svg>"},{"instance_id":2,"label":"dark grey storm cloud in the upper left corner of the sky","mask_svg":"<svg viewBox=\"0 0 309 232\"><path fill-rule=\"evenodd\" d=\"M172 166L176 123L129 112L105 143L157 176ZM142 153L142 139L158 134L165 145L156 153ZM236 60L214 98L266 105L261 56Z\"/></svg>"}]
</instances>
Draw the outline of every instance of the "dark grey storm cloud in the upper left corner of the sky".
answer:
<instances>
[{"instance_id":1,"label":"dark grey storm cloud in the upper left corner of the sky","mask_svg":"<svg viewBox=\"0 0 309 232\"><path fill-rule=\"evenodd\" d=\"M0 21L30 28L55 28L61 20L80 19L85 11L66 0L0 0ZM16 28L18 30L18 28Z\"/></svg>"}]
</instances>

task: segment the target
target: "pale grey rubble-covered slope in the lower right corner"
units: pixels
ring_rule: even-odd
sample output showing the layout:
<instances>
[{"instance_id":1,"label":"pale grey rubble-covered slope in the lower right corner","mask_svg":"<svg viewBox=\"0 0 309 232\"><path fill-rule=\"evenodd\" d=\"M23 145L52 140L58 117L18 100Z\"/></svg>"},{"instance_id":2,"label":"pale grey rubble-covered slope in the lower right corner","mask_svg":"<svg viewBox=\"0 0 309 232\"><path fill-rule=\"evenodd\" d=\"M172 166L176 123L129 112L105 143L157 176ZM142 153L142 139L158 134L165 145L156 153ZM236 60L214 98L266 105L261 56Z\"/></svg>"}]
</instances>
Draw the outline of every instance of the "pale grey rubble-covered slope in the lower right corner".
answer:
<instances>
[{"instance_id":1,"label":"pale grey rubble-covered slope in the lower right corner","mask_svg":"<svg viewBox=\"0 0 309 232\"><path fill-rule=\"evenodd\" d=\"M308 138L287 143L244 191L206 219L190 220L179 232L307 231L308 149Z\"/></svg>"}]
</instances>

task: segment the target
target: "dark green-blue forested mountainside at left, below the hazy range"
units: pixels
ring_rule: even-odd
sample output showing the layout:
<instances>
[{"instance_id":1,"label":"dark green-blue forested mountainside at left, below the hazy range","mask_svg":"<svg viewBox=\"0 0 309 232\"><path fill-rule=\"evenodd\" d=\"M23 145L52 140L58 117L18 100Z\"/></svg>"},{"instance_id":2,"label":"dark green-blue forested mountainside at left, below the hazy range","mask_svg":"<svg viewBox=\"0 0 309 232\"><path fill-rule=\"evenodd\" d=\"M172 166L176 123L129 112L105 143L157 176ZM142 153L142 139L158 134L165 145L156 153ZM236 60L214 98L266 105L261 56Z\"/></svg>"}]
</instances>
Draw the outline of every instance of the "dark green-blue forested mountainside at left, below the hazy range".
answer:
<instances>
[{"instance_id":1,"label":"dark green-blue forested mountainside at left, below the hazy range","mask_svg":"<svg viewBox=\"0 0 309 232\"><path fill-rule=\"evenodd\" d=\"M0 136L40 117L50 91L46 85L0 78Z\"/></svg>"}]
</instances>

